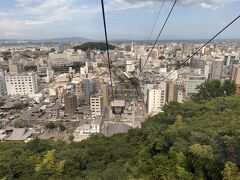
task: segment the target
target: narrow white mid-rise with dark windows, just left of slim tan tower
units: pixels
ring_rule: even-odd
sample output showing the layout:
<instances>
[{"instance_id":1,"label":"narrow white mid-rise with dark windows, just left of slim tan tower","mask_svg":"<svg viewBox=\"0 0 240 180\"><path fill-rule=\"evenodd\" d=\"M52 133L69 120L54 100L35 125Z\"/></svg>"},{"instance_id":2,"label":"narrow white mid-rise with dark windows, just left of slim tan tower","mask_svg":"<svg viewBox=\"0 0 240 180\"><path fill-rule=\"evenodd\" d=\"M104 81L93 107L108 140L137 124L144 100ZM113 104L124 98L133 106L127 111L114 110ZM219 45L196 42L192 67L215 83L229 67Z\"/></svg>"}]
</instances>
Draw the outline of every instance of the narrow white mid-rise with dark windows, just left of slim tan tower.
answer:
<instances>
[{"instance_id":1,"label":"narrow white mid-rise with dark windows, just left of slim tan tower","mask_svg":"<svg viewBox=\"0 0 240 180\"><path fill-rule=\"evenodd\" d=\"M102 115L102 103L103 103L102 96L100 95L91 96L90 106L91 106L91 112L92 112L93 118Z\"/></svg>"}]
</instances>

